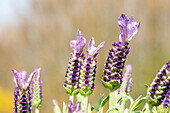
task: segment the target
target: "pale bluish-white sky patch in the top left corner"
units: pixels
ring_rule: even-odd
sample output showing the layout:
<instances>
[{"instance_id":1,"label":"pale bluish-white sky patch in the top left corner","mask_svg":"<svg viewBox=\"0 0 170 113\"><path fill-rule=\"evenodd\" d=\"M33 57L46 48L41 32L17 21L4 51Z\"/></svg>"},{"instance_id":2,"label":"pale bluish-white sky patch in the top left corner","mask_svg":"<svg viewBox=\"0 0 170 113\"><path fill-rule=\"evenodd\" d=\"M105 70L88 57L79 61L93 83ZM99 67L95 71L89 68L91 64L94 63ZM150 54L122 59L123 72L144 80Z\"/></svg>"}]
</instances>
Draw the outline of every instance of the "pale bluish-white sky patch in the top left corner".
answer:
<instances>
[{"instance_id":1,"label":"pale bluish-white sky patch in the top left corner","mask_svg":"<svg viewBox=\"0 0 170 113\"><path fill-rule=\"evenodd\" d=\"M0 0L0 28L5 25L17 25L30 13L31 0Z\"/></svg>"}]
</instances>

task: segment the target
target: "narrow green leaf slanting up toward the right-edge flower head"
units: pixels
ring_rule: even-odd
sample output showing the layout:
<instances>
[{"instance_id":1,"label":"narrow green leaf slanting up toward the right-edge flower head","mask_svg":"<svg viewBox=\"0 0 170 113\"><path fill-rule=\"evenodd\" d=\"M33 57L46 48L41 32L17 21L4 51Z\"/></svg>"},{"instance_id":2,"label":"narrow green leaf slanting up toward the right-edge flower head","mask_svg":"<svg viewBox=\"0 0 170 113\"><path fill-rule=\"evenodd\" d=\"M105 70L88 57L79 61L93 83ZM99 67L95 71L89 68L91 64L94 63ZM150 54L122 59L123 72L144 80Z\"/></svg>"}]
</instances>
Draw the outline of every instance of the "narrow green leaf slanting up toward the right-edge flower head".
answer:
<instances>
[{"instance_id":1,"label":"narrow green leaf slanting up toward the right-edge flower head","mask_svg":"<svg viewBox=\"0 0 170 113\"><path fill-rule=\"evenodd\" d=\"M141 97L141 96L140 96ZM130 113L132 113L134 110L136 110L145 100L146 97L140 98L138 97L130 106Z\"/></svg>"}]
</instances>

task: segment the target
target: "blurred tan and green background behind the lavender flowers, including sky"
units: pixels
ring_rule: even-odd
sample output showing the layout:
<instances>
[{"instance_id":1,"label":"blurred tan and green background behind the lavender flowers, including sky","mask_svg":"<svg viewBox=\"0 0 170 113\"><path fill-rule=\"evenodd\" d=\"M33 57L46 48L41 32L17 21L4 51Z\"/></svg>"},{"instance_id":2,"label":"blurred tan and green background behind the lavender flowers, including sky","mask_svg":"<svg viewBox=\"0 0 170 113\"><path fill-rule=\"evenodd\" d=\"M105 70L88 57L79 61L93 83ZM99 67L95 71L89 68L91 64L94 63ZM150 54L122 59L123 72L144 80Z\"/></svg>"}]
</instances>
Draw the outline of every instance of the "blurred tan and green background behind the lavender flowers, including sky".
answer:
<instances>
[{"instance_id":1,"label":"blurred tan and green background behind the lavender flowers, including sky","mask_svg":"<svg viewBox=\"0 0 170 113\"><path fill-rule=\"evenodd\" d=\"M169 0L0 0L0 113L13 112L15 84L11 69L31 73L36 67L42 68L40 113L53 112L52 99L57 99L60 107L63 101L68 101L63 83L72 52L69 42L77 38L78 28L87 41L93 36L96 45L106 43L97 56L96 89L89 97L91 105L96 105L100 93L108 95L100 79L108 50L119 36L117 20L122 13L141 22L139 32L130 42L126 64L133 68L131 96L134 99L145 96L144 84L150 84L170 60L169 3Z\"/></svg>"}]
</instances>

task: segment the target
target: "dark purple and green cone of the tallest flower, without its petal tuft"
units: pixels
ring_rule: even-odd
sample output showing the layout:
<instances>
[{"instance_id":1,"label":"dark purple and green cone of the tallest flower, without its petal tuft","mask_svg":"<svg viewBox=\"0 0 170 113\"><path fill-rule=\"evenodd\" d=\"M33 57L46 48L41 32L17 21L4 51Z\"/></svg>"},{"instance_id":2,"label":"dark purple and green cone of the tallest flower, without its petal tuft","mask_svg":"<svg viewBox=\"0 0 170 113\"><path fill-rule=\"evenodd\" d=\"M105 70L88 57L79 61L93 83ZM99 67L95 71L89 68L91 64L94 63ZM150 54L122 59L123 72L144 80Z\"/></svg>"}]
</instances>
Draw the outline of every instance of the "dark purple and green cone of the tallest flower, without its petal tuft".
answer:
<instances>
[{"instance_id":1,"label":"dark purple and green cone of the tallest flower, without its petal tuft","mask_svg":"<svg viewBox=\"0 0 170 113\"><path fill-rule=\"evenodd\" d=\"M123 68L129 49L128 42L123 45L122 42L118 42L114 43L112 49L109 50L104 75L102 75L102 83L104 87L111 91L118 89L122 84Z\"/></svg>"}]
</instances>

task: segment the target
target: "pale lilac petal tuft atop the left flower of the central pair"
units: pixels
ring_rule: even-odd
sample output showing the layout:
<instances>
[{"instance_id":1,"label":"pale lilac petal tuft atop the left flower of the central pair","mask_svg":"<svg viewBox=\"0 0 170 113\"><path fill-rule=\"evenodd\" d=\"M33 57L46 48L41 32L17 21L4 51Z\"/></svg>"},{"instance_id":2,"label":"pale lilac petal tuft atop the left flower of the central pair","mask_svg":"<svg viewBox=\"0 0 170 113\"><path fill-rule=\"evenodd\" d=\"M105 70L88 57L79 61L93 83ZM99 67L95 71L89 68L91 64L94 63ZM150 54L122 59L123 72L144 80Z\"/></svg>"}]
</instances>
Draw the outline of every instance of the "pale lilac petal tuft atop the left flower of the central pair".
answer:
<instances>
[{"instance_id":1,"label":"pale lilac petal tuft atop the left flower of the central pair","mask_svg":"<svg viewBox=\"0 0 170 113\"><path fill-rule=\"evenodd\" d=\"M70 41L70 48L75 52L81 54L84 46L86 45L86 39L82 37L81 32L77 31L77 40Z\"/></svg>"}]
</instances>

